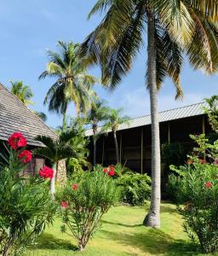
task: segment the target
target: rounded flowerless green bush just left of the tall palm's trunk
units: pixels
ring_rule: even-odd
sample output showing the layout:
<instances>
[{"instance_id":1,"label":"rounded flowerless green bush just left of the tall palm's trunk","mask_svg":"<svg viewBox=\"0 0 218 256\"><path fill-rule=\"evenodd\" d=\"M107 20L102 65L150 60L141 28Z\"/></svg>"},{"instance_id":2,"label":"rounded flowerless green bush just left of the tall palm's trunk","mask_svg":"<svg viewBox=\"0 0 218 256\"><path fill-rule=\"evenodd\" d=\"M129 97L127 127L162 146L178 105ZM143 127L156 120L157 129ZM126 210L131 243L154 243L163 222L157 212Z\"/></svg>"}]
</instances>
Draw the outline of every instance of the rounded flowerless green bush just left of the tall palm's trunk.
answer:
<instances>
[{"instance_id":1,"label":"rounded flowerless green bush just left of the tall palm's trunk","mask_svg":"<svg viewBox=\"0 0 218 256\"><path fill-rule=\"evenodd\" d=\"M118 177L121 200L130 205L143 205L151 195L151 177L136 172L126 172Z\"/></svg>"}]
</instances>

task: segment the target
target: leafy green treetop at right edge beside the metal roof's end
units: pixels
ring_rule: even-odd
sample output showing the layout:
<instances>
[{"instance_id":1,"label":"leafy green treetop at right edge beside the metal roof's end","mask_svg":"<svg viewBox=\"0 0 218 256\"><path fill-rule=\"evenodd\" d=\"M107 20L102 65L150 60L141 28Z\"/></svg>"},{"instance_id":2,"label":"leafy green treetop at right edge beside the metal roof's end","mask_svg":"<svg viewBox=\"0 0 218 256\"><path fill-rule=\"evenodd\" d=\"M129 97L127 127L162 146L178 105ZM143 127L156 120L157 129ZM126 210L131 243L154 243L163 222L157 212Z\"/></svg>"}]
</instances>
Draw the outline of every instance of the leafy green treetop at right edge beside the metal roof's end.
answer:
<instances>
[{"instance_id":1,"label":"leafy green treetop at right edge beside the metal roof's end","mask_svg":"<svg viewBox=\"0 0 218 256\"><path fill-rule=\"evenodd\" d=\"M204 107L204 112L208 115L212 129L218 133L218 96L205 98L205 101L208 103L208 107Z\"/></svg>"}]
</instances>

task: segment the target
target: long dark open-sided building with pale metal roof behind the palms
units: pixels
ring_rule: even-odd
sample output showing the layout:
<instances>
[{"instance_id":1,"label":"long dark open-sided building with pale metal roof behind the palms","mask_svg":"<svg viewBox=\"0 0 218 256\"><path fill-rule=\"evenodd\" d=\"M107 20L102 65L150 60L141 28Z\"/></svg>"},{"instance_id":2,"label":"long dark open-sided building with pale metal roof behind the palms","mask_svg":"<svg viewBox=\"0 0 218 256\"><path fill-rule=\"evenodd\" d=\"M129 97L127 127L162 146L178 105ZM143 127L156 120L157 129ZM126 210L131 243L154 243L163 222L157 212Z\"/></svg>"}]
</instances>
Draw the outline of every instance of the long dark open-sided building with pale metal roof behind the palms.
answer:
<instances>
[{"instance_id":1,"label":"long dark open-sided building with pale metal roof behind the palms","mask_svg":"<svg viewBox=\"0 0 218 256\"><path fill-rule=\"evenodd\" d=\"M159 113L160 142L180 143L185 153L194 144L190 134L209 133L211 128L200 102L183 108L175 108ZM92 137L92 130L86 131ZM146 115L129 120L129 125L120 125L117 133L121 163L135 172L151 172L151 116ZM90 139L92 142L92 139ZM93 159L92 143L89 144L90 161ZM112 132L102 135L97 141L96 162L103 166L116 164L116 154Z\"/></svg>"}]
</instances>

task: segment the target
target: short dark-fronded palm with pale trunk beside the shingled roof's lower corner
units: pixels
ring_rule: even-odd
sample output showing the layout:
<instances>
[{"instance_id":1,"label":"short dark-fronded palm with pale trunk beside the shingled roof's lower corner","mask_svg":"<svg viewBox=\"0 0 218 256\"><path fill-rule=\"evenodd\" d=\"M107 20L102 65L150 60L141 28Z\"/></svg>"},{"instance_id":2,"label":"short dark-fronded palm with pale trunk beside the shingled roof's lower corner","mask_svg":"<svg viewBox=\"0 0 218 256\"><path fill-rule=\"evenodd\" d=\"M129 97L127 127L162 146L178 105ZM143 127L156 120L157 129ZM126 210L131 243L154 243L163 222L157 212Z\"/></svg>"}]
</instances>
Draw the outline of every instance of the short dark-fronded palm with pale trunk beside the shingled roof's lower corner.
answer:
<instances>
[{"instance_id":1,"label":"short dark-fronded palm with pale trunk beside the shingled roof's lower corner","mask_svg":"<svg viewBox=\"0 0 218 256\"><path fill-rule=\"evenodd\" d=\"M45 147L37 148L33 153L49 159L54 165L54 177L51 179L50 183L50 190L53 195L55 193L55 178L58 172L58 162L60 160L77 157L77 152L75 148L72 147L71 143L72 138L76 136L76 131L72 130L62 131L56 141L48 136L37 136L35 138L36 141L43 143Z\"/></svg>"}]
</instances>

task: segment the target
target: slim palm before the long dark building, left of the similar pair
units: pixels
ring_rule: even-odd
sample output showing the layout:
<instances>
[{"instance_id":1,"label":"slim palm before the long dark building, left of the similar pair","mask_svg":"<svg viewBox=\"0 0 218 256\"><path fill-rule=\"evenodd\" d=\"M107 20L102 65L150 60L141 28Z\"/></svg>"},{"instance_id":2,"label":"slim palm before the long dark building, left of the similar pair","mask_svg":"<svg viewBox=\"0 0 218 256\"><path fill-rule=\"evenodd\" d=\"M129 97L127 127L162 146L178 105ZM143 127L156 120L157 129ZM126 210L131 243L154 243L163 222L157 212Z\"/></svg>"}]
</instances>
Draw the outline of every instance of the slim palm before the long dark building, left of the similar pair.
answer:
<instances>
[{"instance_id":1,"label":"slim palm before the long dark building, left of the similar pair","mask_svg":"<svg viewBox=\"0 0 218 256\"><path fill-rule=\"evenodd\" d=\"M91 108L87 113L87 122L92 126L93 131L93 165L96 164L96 143L100 136L98 132L98 125L100 122L107 119L109 108L106 107L106 102L102 100L95 100L91 103Z\"/></svg>"}]
</instances>

